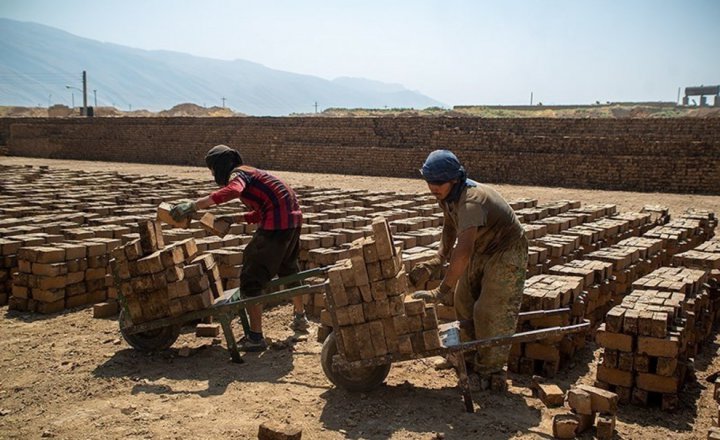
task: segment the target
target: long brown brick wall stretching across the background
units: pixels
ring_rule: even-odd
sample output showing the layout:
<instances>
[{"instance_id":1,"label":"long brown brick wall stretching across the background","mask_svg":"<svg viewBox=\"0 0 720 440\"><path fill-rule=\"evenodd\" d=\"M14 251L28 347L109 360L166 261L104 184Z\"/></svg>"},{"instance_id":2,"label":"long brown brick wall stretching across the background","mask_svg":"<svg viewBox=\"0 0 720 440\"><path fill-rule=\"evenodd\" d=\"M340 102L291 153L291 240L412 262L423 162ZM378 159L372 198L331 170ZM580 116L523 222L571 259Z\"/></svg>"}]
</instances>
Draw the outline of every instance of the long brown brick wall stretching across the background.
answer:
<instances>
[{"instance_id":1,"label":"long brown brick wall stretching across the background","mask_svg":"<svg viewBox=\"0 0 720 440\"><path fill-rule=\"evenodd\" d=\"M262 168L416 177L448 148L486 182L720 191L716 119L0 119L0 130L18 156L202 165L227 143Z\"/></svg>"}]
</instances>

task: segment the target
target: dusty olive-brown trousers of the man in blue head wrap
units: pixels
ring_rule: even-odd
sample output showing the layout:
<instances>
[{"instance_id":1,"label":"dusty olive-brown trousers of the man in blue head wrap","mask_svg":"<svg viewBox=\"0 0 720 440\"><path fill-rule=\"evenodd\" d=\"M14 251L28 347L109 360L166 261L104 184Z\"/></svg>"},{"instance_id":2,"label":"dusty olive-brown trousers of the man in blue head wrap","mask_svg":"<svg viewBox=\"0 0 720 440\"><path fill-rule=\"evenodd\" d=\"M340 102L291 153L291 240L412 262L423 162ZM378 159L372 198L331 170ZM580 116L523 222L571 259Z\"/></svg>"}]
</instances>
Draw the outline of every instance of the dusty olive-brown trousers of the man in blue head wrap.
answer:
<instances>
[{"instance_id":1,"label":"dusty olive-brown trousers of the man in blue head wrap","mask_svg":"<svg viewBox=\"0 0 720 440\"><path fill-rule=\"evenodd\" d=\"M525 285L528 241L522 237L495 254L473 254L455 288L458 319L473 320L475 334L464 340L515 333ZM499 372L507 363L510 346L479 348L467 359L480 375Z\"/></svg>"}]
</instances>

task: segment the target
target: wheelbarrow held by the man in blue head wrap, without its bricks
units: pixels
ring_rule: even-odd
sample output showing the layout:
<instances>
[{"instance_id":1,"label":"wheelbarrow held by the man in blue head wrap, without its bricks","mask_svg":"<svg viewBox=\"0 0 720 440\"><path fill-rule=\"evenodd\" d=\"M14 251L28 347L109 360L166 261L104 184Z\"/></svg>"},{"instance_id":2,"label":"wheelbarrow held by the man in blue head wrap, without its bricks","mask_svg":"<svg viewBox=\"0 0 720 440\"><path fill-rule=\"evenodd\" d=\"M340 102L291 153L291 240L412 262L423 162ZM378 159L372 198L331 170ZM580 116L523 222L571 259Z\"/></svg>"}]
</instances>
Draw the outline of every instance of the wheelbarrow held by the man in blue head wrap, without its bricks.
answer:
<instances>
[{"instance_id":1,"label":"wheelbarrow held by the man in blue head wrap, without its bricks","mask_svg":"<svg viewBox=\"0 0 720 440\"><path fill-rule=\"evenodd\" d=\"M569 314L569 308L555 310L539 310L519 314L520 321L542 318L560 314ZM474 412L470 383L465 365L465 353L475 351L481 347L496 347L510 345L518 342L530 342L552 336L580 333L590 328L590 322L549 327L538 330L515 333L508 336L496 336L487 339L478 339L468 342L460 340L460 327L468 325L466 321L453 321L438 326L441 347L412 354L387 354L371 359L348 361L338 351L335 332L331 332L325 339L322 347L321 364L325 376L335 386L354 392L367 392L380 386L387 378L393 363L422 359L433 356L446 357L455 367L458 375L458 385L465 403L465 410Z\"/></svg>"}]
</instances>

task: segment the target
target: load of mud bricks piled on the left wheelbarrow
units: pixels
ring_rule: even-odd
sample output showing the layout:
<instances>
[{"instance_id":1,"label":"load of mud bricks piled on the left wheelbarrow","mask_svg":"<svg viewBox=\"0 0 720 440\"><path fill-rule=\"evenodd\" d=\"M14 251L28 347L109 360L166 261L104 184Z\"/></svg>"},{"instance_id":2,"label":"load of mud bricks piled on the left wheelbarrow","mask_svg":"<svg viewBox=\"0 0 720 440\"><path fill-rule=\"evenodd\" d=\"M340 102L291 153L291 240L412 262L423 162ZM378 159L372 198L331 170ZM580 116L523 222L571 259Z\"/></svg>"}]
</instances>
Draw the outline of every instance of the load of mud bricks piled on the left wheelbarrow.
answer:
<instances>
[{"instance_id":1,"label":"load of mud bricks piled on the left wheelbarrow","mask_svg":"<svg viewBox=\"0 0 720 440\"><path fill-rule=\"evenodd\" d=\"M165 246L155 221L141 223L139 233L139 239L113 252L112 260L121 302L133 323L201 310L223 293L212 255L196 257L194 239Z\"/></svg>"}]
</instances>

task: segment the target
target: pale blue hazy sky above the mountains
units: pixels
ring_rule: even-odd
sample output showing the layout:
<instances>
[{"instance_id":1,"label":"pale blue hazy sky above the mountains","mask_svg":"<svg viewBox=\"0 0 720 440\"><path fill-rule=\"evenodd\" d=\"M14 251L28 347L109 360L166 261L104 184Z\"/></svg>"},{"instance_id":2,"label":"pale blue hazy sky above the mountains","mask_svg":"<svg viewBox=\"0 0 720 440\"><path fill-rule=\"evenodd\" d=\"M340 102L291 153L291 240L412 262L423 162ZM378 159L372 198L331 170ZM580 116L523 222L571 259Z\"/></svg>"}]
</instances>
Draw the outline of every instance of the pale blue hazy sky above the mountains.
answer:
<instances>
[{"instance_id":1,"label":"pale blue hazy sky above the mountains","mask_svg":"<svg viewBox=\"0 0 720 440\"><path fill-rule=\"evenodd\" d=\"M0 0L141 49L400 83L447 105L675 101L720 83L720 0ZM2 36L0 35L0 38Z\"/></svg>"}]
</instances>

